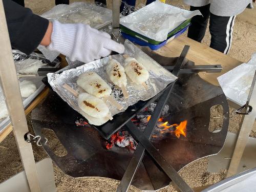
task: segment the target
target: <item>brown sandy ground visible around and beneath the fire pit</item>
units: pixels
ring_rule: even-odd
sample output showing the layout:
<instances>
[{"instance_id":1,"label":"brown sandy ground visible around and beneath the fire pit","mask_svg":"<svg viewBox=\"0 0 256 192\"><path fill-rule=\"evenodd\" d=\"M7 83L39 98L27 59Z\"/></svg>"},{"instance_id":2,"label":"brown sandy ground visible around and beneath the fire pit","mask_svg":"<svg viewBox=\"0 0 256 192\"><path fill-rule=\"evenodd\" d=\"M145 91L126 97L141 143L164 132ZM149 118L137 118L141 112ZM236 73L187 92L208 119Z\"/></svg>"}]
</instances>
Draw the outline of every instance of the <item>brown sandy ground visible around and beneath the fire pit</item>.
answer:
<instances>
[{"instance_id":1,"label":"brown sandy ground visible around and beneath the fire pit","mask_svg":"<svg viewBox=\"0 0 256 192\"><path fill-rule=\"evenodd\" d=\"M74 1L71 1L74 2ZM172 0L167 1L167 3L171 5L175 5L181 8L188 9L189 7L184 5L180 0ZM41 14L45 11L51 9L54 6L54 1L50 0L25 0L25 4L27 7L31 8L35 13ZM145 4L145 1L137 1L136 5ZM112 2L107 1L107 5L111 7ZM253 15L253 17L248 17L248 15ZM251 54L256 52L256 26L253 19L256 17L256 8L253 10L246 10L246 13L242 16L238 16L236 18L236 23L233 29L233 44L229 55L246 62L250 59ZM253 21L252 21L253 20ZM186 34L184 34L186 35ZM203 43L209 45L210 42L210 34L209 31L206 31L206 35L203 39ZM230 108L230 112L232 109ZM218 115L218 114L216 114ZM239 128L239 122L241 117L235 115L232 119L230 119L229 123L229 131L232 133L237 133ZM28 123L31 129L30 116L28 116ZM254 124L255 130L256 124ZM256 137L256 132L251 132L252 137ZM56 154L63 154L64 150L58 144L57 139L52 135L49 135L48 138L51 139L51 147L55 151ZM37 147L33 144L34 156L35 160L39 161L47 157L46 153L42 150L42 148ZM12 177L16 173L23 170L22 163L20 162L20 158L17 155L18 150L16 147L15 139L13 133L11 133L2 143L0 143L0 183L5 181L6 179ZM207 172L207 158L203 158L197 160L194 163L189 164L184 169L181 170L180 175L184 178L184 180L189 184L190 187L199 187L204 185L211 185L220 180L222 180L225 176L226 170L222 170L219 173L208 173ZM69 176L63 174L58 167L54 165L54 174L55 174L55 182L57 191L67 192L67 191L90 191L90 192L107 192L107 191L115 191L118 185L118 181L113 179L106 178L84 178L84 180L73 179ZM135 187L131 187L130 191L140 191ZM172 186L168 186L161 190L165 191L173 191Z\"/></svg>"}]
</instances>

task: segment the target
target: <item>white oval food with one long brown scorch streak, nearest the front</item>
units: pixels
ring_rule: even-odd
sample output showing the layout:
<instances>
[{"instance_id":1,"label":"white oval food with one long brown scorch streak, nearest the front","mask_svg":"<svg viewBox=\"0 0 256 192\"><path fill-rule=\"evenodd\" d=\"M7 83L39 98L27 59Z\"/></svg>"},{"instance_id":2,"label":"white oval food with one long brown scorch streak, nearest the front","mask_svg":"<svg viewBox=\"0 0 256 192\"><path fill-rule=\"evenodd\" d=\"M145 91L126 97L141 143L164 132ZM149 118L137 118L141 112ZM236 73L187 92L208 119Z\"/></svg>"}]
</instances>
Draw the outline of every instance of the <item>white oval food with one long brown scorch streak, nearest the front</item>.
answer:
<instances>
[{"instance_id":1,"label":"white oval food with one long brown scorch streak, nearest the front","mask_svg":"<svg viewBox=\"0 0 256 192\"><path fill-rule=\"evenodd\" d=\"M78 96L79 108L94 118L102 118L109 114L108 106L99 98L88 93L81 93Z\"/></svg>"}]
</instances>

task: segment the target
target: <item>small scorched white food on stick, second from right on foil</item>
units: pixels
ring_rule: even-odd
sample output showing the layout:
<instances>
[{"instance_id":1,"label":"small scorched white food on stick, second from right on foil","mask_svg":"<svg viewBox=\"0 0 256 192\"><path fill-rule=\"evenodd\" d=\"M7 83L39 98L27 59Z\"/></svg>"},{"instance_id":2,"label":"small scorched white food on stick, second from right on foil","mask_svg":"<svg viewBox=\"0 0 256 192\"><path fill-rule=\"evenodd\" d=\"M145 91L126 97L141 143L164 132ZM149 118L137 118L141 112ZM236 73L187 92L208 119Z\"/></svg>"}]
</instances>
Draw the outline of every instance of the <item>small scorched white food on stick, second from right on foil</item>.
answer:
<instances>
[{"instance_id":1,"label":"small scorched white food on stick, second from right on foil","mask_svg":"<svg viewBox=\"0 0 256 192\"><path fill-rule=\"evenodd\" d=\"M123 66L115 60L111 59L108 66L106 66L106 73L109 75L110 80L119 88L126 87L127 78Z\"/></svg>"}]
</instances>

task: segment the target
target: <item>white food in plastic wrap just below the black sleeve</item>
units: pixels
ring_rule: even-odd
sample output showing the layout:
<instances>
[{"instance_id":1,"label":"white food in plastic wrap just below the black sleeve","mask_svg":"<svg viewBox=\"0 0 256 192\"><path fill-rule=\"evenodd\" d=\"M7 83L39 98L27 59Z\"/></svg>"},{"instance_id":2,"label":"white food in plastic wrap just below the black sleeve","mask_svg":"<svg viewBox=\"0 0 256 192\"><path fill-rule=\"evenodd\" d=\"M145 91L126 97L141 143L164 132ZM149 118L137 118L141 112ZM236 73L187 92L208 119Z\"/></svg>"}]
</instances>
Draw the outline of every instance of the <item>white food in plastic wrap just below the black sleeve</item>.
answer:
<instances>
[{"instance_id":1,"label":"white food in plastic wrap just below the black sleeve","mask_svg":"<svg viewBox=\"0 0 256 192\"><path fill-rule=\"evenodd\" d=\"M25 59L22 61L15 61L16 66L18 66L17 72L19 74L37 74L37 71L43 65L42 61L37 59Z\"/></svg>"}]
</instances>

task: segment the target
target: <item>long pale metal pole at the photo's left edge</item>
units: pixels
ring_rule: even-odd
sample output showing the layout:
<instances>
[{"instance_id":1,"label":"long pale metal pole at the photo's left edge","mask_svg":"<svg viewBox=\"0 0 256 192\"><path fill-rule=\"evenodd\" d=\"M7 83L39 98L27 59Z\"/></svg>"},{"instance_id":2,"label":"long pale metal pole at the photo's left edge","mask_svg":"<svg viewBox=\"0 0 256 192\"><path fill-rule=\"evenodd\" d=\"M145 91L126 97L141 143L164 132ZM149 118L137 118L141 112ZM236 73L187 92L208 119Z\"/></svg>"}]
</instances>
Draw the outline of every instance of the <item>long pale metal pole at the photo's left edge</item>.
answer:
<instances>
[{"instance_id":1,"label":"long pale metal pole at the photo's left edge","mask_svg":"<svg viewBox=\"0 0 256 192\"><path fill-rule=\"evenodd\" d=\"M30 190L32 192L39 192L41 190L36 173L32 146L31 143L27 143L24 139L24 135L29 130L22 96L19 91L19 84L12 57L12 49L2 0L0 0L0 45L0 80L2 82L2 88L6 98L6 104L13 126L19 155L22 159Z\"/></svg>"}]
</instances>

